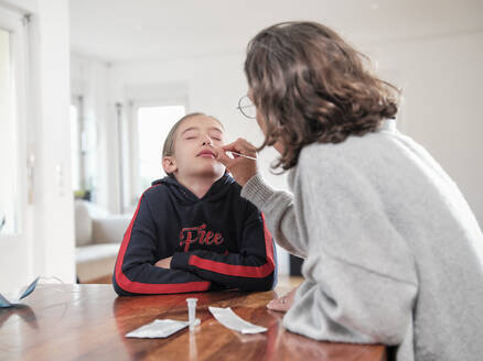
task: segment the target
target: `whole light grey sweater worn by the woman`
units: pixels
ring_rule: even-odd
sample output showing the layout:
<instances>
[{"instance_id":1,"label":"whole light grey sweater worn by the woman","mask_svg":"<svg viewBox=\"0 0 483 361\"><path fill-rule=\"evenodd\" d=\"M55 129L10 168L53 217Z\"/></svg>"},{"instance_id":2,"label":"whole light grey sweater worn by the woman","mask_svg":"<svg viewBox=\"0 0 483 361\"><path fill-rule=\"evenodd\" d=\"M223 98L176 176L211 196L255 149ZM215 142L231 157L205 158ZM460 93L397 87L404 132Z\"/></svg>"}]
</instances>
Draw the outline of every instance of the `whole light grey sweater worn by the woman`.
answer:
<instances>
[{"instance_id":1,"label":"whole light grey sweater worn by the woman","mask_svg":"<svg viewBox=\"0 0 483 361\"><path fill-rule=\"evenodd\" d=\"M242 190L304 258L286 328L397 346L397 360L483 360L483 236L422 146L390 128L311 144L289 185L256 175Z\"/></svg>"}]
</instances>

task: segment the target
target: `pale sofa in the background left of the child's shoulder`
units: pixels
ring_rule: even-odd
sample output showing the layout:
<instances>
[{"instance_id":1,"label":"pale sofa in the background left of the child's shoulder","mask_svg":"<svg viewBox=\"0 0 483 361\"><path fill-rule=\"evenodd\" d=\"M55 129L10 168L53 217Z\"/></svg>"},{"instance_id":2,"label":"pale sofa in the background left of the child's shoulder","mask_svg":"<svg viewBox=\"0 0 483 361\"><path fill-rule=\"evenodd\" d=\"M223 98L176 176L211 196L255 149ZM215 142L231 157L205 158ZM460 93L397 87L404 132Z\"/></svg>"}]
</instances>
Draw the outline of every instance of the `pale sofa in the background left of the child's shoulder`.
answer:
<instances>
[{"instance_id":1,"label":"pale sofa in the background left of the child's shoulder","mask_svg":"<svg viewBox=\"0 0 483 361\"><path fill-rule=\"evenodd\" d=\"M86 200L75 200L77 282L110 283L116 256L131 215L109 215Z\"/></svg>"}]
</instances>

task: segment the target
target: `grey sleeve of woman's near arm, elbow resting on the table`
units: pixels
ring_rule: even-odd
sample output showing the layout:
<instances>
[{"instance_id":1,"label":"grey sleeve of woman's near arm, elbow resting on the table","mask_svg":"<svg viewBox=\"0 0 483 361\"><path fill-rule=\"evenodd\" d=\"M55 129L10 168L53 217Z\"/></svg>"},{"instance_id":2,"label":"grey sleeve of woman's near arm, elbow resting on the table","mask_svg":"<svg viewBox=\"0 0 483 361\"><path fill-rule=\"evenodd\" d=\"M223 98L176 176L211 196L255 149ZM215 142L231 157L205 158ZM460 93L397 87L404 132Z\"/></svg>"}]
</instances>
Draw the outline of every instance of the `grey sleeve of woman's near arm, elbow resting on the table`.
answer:
<instances>
[{"instance_id":1,"label":"grey sleeve of woman's near arm, elbow resting on the table","mask_svg":"<svg viewBox=\"0 0 483 361\"><path fill-rule=\"evenodd\" d=\"M305 156L302 164L303 187L293 192L310 252L283 325L314 339L400 343L411 327L418 278L409 245L387 214L387 197L397 195L342 156L324 155L316 164Z\"/></svg>"}]
</instances>

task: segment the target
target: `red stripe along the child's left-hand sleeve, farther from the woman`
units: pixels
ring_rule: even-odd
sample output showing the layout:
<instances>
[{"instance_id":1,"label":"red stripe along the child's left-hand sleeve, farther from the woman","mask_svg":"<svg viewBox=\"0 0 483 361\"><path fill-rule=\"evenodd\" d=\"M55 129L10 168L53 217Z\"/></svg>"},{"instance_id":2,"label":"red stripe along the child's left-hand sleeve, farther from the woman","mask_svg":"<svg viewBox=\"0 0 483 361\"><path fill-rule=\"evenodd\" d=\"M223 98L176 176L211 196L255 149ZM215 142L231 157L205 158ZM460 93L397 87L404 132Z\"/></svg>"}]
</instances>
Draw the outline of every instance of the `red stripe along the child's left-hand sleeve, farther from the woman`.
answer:
<instances>
[{"instance_id":1,"label":"red stripe along the child's left-hand sleeve, farther from the woman","mask_svg":"<svg viewBox=\"0 0 483 361\"><path fill-rule=\"evenodd\" d=\"M155 187L155 186L152 186ZM152 187L149 187L147 190L151 189ZM147 192L146 190L146 192ZM144 193L146 193L144 192ZM116 282L117 284L125 291L131 292L131 293L184 293L184 292L200 292L200 291L206 291L210 288L210 282L186 282L181 284L151 284L151 283L141 283L141 282L133 282L130 281L124 273L122 273L122 262L125 259L126 250L128 248L129 241L131 240L131 232L132 232L132 226L135 225L136 217L138 216L139 206L141 205L141 200L144 194L142 194L141 198L139 198L138 207L136 208L135 216L132 216L131 222L129 223L129 227L125 233L125 237L122 239L122 244L119 250L119 255L116 261Z\"/></svg>"}]
</instances>

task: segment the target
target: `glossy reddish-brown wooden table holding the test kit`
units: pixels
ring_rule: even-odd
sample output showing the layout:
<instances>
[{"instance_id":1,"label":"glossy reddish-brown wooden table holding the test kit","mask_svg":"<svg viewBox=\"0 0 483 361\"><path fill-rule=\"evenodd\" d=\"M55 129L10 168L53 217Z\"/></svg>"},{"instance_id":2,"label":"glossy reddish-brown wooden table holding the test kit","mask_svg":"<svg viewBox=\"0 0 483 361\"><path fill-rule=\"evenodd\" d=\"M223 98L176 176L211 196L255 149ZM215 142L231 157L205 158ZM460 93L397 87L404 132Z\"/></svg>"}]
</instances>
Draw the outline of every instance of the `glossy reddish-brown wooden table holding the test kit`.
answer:
<instances>
[{"instance_id":1,"label":"glossy reddish-brown wooden table holding the test kit","mask_svg":"<svg viewBox=\"0 0 483 361\"><path fill-rule=\"evenodd\" d=\"M386 360L383 346L318 342L283 329L266 304L276 292L212 292L117 297L110 285L41 284L25 305L0 308L0 360ZM185 320L196 297L195 331L168 339L125 335L155 318ZM208 306L232 307L268 328L240 335L218 324Z\"/></svg>"}]
</instances>

